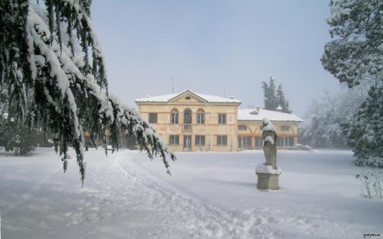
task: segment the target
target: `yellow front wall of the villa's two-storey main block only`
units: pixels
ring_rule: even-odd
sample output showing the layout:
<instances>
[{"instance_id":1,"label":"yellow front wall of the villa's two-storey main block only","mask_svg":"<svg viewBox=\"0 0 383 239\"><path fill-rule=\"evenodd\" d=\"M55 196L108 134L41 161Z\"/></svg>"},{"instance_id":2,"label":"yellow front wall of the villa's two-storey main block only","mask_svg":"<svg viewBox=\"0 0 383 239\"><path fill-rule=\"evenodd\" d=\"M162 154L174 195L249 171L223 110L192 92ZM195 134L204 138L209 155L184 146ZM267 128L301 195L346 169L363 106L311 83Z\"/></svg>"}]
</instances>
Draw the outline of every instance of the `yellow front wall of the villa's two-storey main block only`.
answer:
<instances>
[{"instance_id":1,"label":"yellow front wall of the villa's two-storey main block only","mask_svg":"<svg viewBox=\"0 0 383 239\"><path fill-rule=\"evenodd\" d=\"M185 96L191 96L186 100ZM171 111L179 112L179 124L171 124ZM185 109L192 111L192 131L183 132ZM205 124L197 124L197 110L205 112ZM182 94L170 102L138 102L138 111L149 118L157 113L157 124L152 124L158 134L169 145L170 135L179 135L179 145L169 145L172 151L183 151L183 136L191 135L191 151L237 151L238 103L209 103L194 95ZM218 113L226 113L226 124L218 124ZM195 145L195 135L205 136L205 146ZM217 135L227 135L227 145L217 145Z\"/></svg>"}]
</instances>

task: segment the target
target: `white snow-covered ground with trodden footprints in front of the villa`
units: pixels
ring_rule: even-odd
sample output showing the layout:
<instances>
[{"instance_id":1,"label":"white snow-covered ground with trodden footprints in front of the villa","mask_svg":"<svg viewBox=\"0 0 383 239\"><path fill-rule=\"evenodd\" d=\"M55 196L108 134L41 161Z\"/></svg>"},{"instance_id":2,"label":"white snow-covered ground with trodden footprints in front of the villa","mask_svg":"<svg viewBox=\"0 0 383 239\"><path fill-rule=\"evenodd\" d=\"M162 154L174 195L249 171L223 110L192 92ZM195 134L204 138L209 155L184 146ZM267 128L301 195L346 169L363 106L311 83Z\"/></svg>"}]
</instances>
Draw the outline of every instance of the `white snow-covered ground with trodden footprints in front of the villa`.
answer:
<instances>
[{"instance_id":1,"label":"white snow-covered ground with trodden footprints in front of the villa","mask_svg":"<svg viewBox=\"0 0 383 239\"><path fill-rule=\"evenodd\" d=\"M90 149L84 187L52 149L0 151L2 238L361 238L383 233L383 200L360 196L351 151L278 151L280 190L256 189L262 151L160 158Z\"/></svg>"}]
</instances>

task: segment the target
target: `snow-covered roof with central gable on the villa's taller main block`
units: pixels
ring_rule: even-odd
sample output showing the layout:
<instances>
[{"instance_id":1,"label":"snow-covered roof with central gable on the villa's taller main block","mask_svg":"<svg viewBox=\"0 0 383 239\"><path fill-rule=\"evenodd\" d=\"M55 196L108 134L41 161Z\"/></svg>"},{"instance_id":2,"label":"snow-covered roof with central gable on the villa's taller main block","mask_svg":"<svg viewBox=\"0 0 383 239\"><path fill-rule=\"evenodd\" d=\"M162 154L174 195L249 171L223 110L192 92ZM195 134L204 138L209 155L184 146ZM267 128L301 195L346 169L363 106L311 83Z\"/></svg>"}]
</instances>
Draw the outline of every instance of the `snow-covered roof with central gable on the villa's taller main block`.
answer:
<instances>
[{"instance_id":1,"label":"snow-covered roof with central gable on the villa's taller main block","mask_svg":"<svg viewBox=\"0 0 383 239\"><path fill-rule=\"evenodd\" d=\"M194 94L202 99L204 99L207 102L217 102L217 103L241 103L240 100L234 99L234 98L224 98L220 96L212 96L212 95L205 95L193 92L189 89L184 90L180 93L175 94L169 94L169 95L160 95L160 96L153 96L153 97L146 97L141 99L136 99L136 102L169 102L170 100L176 98L177 96L184 94L186 92L190 92L191 94Z\"/></svg>"}]
</instances>

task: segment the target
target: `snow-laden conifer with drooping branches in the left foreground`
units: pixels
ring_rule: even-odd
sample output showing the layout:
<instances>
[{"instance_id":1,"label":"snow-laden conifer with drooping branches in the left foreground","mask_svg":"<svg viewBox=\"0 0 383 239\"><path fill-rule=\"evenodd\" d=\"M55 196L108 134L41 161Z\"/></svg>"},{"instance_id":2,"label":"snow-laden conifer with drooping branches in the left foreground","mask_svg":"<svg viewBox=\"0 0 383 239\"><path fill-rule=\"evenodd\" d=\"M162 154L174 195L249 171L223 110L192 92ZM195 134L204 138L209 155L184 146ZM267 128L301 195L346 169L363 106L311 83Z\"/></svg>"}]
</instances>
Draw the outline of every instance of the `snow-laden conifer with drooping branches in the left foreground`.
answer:
<instances>
[{"instance_id":1,"label":"snow-laden conifer with drooping branches in the left foreground","mask_svg":"<svg viewBox=\"0 0 383 239\"><path fill-rule=\"evenodd\" d=\"M55 135L56 151L64 156L71 145L83 182L83 130L93 142L119 147L119 129L137 137L152 158L160 154L169 168L165 143L134 109L108 93L104 54L90 20L90 0L46 0L48 26L28 0L0 1L0 84L8 89L15 120L28 127L42 123ZM66 26L68 40L63 39ZM76 39L81 54L76 52ZM90 50L90 52L89 52ZM32 104L28 106L27 98ZM169 169L168 169L169 172ZM170 172L169 172L170 173Z\"/></svg>"}]
</instances>

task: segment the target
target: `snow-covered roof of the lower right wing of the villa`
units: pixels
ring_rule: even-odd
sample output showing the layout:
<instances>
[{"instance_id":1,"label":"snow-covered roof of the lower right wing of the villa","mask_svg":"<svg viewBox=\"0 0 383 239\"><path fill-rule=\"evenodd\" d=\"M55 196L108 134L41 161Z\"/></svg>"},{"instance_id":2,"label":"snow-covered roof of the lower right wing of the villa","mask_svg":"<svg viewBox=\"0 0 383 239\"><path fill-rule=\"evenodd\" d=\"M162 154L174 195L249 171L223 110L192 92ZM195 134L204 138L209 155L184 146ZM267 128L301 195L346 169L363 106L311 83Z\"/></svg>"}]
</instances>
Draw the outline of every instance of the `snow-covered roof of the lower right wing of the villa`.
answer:
<instances>
[{"instance_id":1,"label":"snow-covered roof of the lower right wing of the villa","mask_svg":"<svg viewBox=\"0 0 383 239\"><path fill-rule=\"evenodd\" d=\"M296 121L303 122L303 120L292 113L282 113L267 109L238 109L239 121L262 121L263 118L268 118L270 121Z\"/></svg>"}]
</instances>

